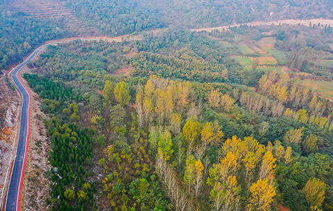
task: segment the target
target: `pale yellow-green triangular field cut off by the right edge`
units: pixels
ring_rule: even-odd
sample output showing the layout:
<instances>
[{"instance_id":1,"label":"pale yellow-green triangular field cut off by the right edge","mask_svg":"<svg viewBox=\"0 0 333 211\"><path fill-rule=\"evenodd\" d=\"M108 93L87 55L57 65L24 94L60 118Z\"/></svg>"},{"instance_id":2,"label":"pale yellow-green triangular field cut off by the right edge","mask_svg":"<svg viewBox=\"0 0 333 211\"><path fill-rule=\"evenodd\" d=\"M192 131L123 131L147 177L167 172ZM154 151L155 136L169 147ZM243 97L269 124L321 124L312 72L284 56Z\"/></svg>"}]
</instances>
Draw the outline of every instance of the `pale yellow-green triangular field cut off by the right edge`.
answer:
<instances>
[{"instance_id":1,"label":"pale yellow-green triangular field cut off by the right edge","mask_svg":"<svg viewBox=\"0 0 333 211\"><path fill-rule=\"evenodd\" d=\"M324 98L333 100L333 82L321 81L301 81L302 84L308 89L313 90L315 93L322 95Z\"/></svg>"}]
</instances>

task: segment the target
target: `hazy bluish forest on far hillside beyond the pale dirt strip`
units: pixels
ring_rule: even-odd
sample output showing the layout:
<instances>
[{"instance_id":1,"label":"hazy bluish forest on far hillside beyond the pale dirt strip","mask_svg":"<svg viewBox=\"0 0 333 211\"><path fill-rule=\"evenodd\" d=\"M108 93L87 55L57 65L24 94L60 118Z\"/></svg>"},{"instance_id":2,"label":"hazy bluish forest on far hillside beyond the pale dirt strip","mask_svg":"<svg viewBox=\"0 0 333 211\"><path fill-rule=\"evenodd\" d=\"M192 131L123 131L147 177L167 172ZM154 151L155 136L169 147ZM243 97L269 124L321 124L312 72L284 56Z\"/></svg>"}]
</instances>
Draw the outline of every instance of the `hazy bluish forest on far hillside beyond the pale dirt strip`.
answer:
<instances>
[{"instance_id":1,"label":"hazy bluish forest on far hillside beyond the pale dirt strip","mask_svg":"<svg viewBox=\"0 0 333 211\"><path fill-rule=\"evenodd\" d=\"M108 35L123 35L164 26L203 28L278 19L330 19L333 6L332 1L325 0L191 0L154 3L139 0L67 0L67 3Z\"/></svg>"}]
</instances>

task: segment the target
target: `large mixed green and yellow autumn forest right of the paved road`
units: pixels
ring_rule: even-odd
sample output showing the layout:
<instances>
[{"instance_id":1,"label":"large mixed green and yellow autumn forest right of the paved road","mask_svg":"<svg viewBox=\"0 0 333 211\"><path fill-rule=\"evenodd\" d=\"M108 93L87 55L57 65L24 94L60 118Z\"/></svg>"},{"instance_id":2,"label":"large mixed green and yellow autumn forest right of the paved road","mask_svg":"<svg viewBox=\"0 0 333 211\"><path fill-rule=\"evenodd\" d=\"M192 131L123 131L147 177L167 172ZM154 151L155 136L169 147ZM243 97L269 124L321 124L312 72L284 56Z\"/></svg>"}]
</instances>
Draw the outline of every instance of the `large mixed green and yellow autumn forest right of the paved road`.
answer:
<instances>
[{"instance_id":1,"label":"large mixed green and yellow autumn forest right of the paved road","mask_svg":"<svg viewBox=\"0 0 333 211\"><path fill-rule=\"evenodd\" d=\"M333 104L210 38L241 30L258 29L75 41L31 62L49 113L50 208L331 210Z\"/></svg>"}]
</instances>

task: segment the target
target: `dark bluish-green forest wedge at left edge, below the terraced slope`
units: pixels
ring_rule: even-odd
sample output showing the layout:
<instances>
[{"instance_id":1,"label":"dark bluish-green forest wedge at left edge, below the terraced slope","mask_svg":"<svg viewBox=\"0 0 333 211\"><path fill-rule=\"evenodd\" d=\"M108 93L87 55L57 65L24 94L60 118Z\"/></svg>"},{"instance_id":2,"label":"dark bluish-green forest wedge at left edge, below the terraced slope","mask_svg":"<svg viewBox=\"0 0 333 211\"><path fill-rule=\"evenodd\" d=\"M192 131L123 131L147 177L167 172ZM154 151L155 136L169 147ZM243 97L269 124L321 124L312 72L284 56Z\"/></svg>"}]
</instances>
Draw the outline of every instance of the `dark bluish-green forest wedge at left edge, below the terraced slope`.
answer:
<instances>
[{"instance_id":1,"label":"dark bluish-green forest wedge at left edge, below the terraced slope","mask_svg":"<svg viewBox=\"0 0 333 211\"><path fill-rule=\"evenodd\" d=\"M70 35L61 22L35 19L1 5L0 19L0 71L22 61L43 42Z\"/></svg>"}]
</instances>

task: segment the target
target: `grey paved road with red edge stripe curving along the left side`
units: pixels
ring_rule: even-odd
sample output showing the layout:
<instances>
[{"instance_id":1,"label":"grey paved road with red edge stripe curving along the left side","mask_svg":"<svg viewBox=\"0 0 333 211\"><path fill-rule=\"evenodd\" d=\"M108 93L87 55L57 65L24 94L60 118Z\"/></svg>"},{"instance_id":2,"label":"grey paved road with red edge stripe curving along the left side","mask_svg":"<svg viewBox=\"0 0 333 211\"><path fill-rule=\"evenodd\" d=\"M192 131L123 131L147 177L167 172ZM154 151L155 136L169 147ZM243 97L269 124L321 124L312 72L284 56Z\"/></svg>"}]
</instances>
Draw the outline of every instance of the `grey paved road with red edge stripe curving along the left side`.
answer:
<instances>
[{"instance_id":1,"label":"grey paved road with red edge stripe curving along the left side","mask_svg":"<svg viewBox=\"0 0 333 211\"><path fill-rule=\"evenodd\" d=\"M31 96L21 79L19 78L19 71L33 58L40 53L46 46L37 48L26 61L17 66L12 71L12 80L15 82L19 92L22 94L22 109L21 121L19 125L19 139L17 142L17 152L15 156L15 163L12 168L10 183L7 192L6 210L21 210L22 199L22 185L24 179L24 172L26 169L26 158L28 154L28 140L30 135L30 104Z\"/></svg>"}]
</instances>

